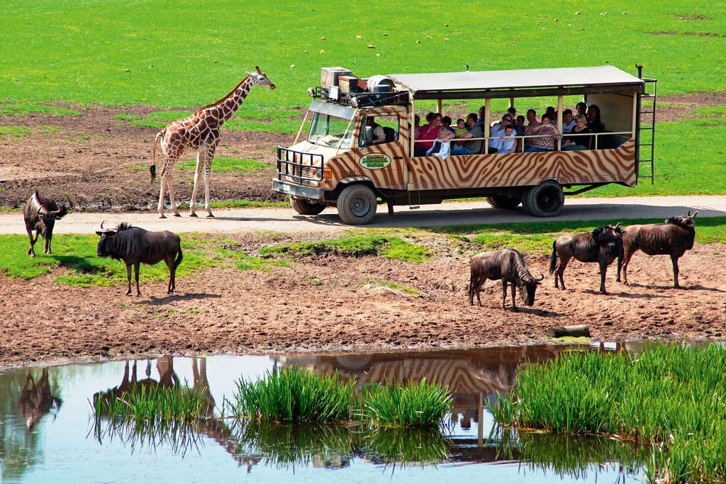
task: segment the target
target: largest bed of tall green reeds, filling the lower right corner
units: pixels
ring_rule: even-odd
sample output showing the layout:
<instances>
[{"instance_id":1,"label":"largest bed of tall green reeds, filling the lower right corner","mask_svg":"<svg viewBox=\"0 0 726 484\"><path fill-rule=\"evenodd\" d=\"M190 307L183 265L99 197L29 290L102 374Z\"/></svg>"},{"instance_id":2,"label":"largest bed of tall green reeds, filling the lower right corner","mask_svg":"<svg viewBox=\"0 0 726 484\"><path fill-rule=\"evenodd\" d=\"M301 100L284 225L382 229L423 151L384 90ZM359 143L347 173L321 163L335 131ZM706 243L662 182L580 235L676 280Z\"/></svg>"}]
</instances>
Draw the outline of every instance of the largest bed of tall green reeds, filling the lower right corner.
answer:
<instances>
[{"instance_id":1,"label":"largest bed of tall green reeds, filling the lower right corner","mask_svg":"<svg viewBox=\"0 0 726 484\"><path fill-rule=\"evenodd\" d=\"M726 351L648 345L640 356L567 353L528 365L493 409L500 424L648 442L651 480L726 479Z\"/></svg>"}]
</instances>

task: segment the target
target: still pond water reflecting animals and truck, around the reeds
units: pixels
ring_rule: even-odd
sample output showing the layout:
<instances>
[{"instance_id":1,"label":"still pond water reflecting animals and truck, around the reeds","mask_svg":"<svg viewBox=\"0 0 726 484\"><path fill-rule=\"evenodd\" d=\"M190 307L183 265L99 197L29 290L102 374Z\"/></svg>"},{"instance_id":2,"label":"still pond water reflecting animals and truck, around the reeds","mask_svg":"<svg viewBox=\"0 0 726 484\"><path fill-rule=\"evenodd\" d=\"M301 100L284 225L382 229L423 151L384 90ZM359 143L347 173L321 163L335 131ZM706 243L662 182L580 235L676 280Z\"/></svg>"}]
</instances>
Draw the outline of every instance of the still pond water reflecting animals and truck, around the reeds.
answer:
<instances>
[{"instance_id":1,"label":"still pond water reflecting animals and truck, around the reeds","mask_svg":"<svg viewBox=\"0 0 726 484\"><path fill-rule=\"evenodd\" d=\"M637 343L596 350L637 352ZM649 448L600 438L496 430L489 405L523 364L562 351L548 345L399 353L290 353L108 361L0 372L0 482L569 483L643 477ZM428 380L449 386L454 409L438 432L343 425L290 426L208 419L153 432L94 420L97 393L128 382L179 381L205 393L219 416L240 377L284 366L332 372L356 385ZM110 392L110 393L108 393Z\"/></svg>"}]
</instances>

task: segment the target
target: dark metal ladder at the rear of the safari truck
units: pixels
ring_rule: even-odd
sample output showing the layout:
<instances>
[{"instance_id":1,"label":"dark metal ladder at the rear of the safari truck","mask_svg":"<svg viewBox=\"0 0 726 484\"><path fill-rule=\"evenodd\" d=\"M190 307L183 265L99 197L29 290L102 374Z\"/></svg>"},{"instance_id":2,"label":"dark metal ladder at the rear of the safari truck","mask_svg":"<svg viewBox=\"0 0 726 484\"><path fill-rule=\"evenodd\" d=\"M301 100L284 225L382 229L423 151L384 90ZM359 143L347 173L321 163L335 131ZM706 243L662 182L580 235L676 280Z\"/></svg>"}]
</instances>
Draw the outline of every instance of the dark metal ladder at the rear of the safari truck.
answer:
<instances>
[{"instance_id":1,"label":"dark metal ladder at the rear of the safari truck","mask_svg":"<svg viewBox=\"0 0 726 484\"><path fill-rule=\"evenodd\" d=\"M635 132L635 173L637 180L650 179L650 184L655 181L653 159L656 149L656 83L657 79L643 78L643 66L637 67L637 76L645 83L645 92L638 94L637 99L637 131ZM645 106L643 106L645 102ZM645 109L644 111L642 109ZM643 123L643 115L650 115L650 123ZM645 165L645 170L643 169ZM650 165L650 173L648 173Z\"/></svg>"}]
</instances>

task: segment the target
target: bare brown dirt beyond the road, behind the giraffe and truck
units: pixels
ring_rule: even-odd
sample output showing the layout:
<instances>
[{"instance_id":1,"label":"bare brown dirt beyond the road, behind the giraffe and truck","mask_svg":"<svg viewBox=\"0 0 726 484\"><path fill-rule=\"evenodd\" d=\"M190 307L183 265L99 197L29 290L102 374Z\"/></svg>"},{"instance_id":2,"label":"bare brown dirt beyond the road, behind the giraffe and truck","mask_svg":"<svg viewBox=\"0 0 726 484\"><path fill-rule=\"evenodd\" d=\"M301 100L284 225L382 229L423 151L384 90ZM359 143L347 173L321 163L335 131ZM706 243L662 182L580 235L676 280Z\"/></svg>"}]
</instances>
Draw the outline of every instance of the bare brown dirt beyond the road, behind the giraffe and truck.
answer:
<instances>
[{"instance_id":1,"label":"bare brown dirt beyond the road, behind the giraffe and truck","mask_svg":"<svg viewBox=\"0 0 726 484\"><path fill-rule=\"evenodd\" d=\"M726 104L726 92L661 97L658 120L695 118L698 107ZM152 106L70 107L81 116L3 116L0 126L27 126L29 136L0 136L0 206L22 207L34 188L76 210L152 210L159 186L150 184L148 165L157 128L131 126L116 115L147 115ZM50 127L50 129L48 128ZM217 157L250 157L269 170L213 173L213 200L280 202L272 192L275 147L293 135L223 130ZM192 155L185 155L192 159ZM157 163L158 160L157 160ZM160 167L159 167L160 168ZM192 171L176 170L178 200L188 202Z\"/></svg>"}]
</instances>

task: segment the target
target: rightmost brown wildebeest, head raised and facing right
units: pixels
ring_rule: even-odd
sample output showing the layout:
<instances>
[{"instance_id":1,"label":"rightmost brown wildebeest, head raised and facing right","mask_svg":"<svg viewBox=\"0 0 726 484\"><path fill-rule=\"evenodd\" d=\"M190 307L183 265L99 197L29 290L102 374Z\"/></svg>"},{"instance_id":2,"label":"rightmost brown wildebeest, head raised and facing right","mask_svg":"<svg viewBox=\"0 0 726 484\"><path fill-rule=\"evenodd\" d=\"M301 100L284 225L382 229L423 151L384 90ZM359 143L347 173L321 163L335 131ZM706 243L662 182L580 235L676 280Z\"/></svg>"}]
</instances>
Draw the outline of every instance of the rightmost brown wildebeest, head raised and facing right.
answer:
<instances>
[{"instance_id":1,"label":"rightmost brown wildebeest, head raised and facing right","mask_svg":"<svg viewBox=\"0 0 726 484\"><path fill-rule=\"evenodd\" d=\"M623 282L628 284L628 263L633 254L643 250L648 255L670 255L673 263L673 287L678 284L678 259L686 250L693 249L696 239L696 222L693 218L698 212L685 217L666 218L664 223L649 225L631 225L623 229L623 257L618 261L618 282L620 270L623 271Z\"/></svg>"}]
</instances>

